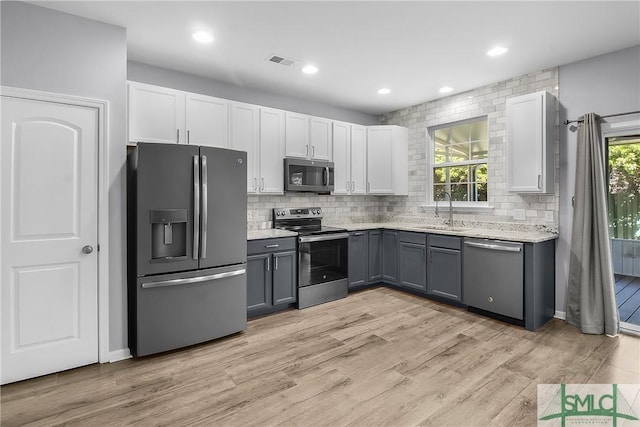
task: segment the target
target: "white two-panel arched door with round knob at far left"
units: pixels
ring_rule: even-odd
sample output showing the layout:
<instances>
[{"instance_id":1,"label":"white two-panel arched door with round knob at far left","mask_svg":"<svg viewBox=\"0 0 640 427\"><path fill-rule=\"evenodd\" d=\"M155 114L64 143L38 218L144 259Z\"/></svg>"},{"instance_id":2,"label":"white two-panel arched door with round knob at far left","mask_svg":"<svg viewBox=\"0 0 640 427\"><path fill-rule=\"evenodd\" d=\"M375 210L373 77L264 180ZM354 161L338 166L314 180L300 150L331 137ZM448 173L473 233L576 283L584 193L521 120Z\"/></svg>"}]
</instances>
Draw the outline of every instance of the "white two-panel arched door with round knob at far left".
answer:
<instances>
[{"instance_id":1,"label":"white two-panel arched door with round knob at far left","mask_svg":"<svg viewBox=\"0 0 640 427\"><path fill-rule=\"evenodd\" d=\"M97 143L97 109L2 97L3 384L98 361Z\"/></svg>"}]
</instances>

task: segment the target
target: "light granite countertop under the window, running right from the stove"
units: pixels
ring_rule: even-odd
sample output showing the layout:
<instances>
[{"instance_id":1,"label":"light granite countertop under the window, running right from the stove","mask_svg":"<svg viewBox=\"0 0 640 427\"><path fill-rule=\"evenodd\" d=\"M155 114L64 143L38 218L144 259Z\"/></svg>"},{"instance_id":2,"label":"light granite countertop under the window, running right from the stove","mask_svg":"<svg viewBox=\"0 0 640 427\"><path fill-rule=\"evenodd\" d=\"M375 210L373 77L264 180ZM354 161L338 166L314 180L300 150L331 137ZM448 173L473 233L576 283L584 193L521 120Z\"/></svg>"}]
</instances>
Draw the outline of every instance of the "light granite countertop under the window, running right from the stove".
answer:
<instances>
[{"instance_id":1,"label":"light granite countertop under the window, running right from the stove","mask_svg":"<svg viewBox=\"0 0 640 427\"><path fill-rule=\"evenodd\" d=\"M481 239L506 240L511 242L539 243L558 238L557 233L547 231L521 231L505 229L476 228L462 226L449 228L446 225L412 224L406 222L368 222L349 224L327 224L346 228L348 231L384 228L390 230L415 231L420 233L447 234L451 236L477 237Z\"/></svg>"}]
</instances>

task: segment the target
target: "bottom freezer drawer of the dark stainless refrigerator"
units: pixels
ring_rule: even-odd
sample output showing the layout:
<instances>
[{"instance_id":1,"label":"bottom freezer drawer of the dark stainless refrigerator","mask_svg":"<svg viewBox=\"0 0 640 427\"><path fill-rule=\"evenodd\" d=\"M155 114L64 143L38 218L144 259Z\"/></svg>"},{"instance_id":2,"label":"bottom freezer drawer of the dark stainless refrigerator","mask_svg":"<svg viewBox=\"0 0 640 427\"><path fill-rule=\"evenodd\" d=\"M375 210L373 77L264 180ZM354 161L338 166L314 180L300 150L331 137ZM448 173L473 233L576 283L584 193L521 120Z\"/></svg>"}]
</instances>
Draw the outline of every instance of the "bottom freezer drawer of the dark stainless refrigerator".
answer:
<instances>
[{"instance_id":1,"label":"bottom freezer drawer of the dark stainless refrigerator","mask_svg":"<svg viewBox=\"0 0 640 427\"><path fill-rule=\"evenodd\" d=\"M146 356L220 338L247 326L246 264L138 278L130 348Z\"/></svg>"}]
</instances>

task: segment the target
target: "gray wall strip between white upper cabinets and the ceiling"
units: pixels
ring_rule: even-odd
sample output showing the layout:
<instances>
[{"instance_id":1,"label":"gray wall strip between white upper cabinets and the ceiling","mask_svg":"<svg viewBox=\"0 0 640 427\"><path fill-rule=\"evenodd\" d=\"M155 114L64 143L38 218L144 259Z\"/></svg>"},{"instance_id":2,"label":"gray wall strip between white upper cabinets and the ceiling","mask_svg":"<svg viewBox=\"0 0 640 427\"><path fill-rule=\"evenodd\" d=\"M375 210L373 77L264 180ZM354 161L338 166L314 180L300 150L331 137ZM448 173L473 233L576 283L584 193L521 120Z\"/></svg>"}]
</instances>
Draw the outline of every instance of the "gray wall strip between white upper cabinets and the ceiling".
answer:
<instances>
[{"instance_id":1,"label":"gray wall strip between white upper cabinets and the ceiling","mask_svg":"<svg viewBox=\"0 0 640 427\"><path fill-rule=\"evenodd\" d=\"M204 77L182 73L180 71L159 68L153 65L129 61L127 77L141 83L149 83L158 86L187 92L201 93L209 96L230 99L232 101L246 102L248 104L262 105L264 107L277 108L287 111L295 111L312 116L326 117L328 119L341 120L361 125L378 124L377 117L372 114L361 113L354 110L346 110L327 104L307 101L301 98L291 98L273 93L249 89L242 86L229 85Z\"/></svg>"}]
</instances>

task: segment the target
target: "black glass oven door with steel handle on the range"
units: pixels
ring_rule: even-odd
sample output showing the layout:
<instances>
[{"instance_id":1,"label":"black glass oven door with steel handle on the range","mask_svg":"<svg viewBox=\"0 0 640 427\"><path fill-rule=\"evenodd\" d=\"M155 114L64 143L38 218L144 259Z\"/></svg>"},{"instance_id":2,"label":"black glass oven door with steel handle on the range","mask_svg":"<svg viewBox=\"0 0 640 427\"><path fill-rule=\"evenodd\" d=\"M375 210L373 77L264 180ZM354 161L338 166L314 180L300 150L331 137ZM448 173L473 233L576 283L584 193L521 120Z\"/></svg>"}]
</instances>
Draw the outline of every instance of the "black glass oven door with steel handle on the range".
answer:
<instances>
[{"instance_id":1,"label":"black glass oven door with steel handle on the range","mask_svg":"<svg viewBox=\"0 0 640 427\"><path fill-rule=\"evenodd\" d=\"M348 233L298 238L298 286L317 285L348 276Z\"/></svg>"}]
</instances>

